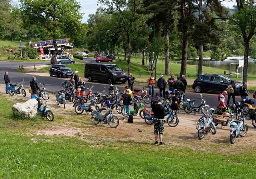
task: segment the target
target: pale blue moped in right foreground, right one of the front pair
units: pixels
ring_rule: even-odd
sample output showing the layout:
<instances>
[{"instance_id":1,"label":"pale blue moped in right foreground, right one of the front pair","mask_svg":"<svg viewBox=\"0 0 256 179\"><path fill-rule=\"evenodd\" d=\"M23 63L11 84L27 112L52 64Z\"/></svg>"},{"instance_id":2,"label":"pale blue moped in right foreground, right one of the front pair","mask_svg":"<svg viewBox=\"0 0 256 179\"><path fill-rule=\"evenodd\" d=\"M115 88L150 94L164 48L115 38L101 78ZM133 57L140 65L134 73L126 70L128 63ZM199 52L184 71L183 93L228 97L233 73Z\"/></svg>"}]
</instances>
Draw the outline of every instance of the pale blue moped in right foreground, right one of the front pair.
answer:
<instances>
[{"instance_id":1,"label":"pale blue moped in right foreground, right one of the front pair","mask_svg":"<svg viewBox=\"0 0 256 179\"><path fill-rule=\"evenodd\" d=\"M230 124L230 142L234 144L236 142L236 138L246 136L248 132L248 126L245 123L245 118L241 118L238 121L233 121Z\"/></svg>"}]
</instances>

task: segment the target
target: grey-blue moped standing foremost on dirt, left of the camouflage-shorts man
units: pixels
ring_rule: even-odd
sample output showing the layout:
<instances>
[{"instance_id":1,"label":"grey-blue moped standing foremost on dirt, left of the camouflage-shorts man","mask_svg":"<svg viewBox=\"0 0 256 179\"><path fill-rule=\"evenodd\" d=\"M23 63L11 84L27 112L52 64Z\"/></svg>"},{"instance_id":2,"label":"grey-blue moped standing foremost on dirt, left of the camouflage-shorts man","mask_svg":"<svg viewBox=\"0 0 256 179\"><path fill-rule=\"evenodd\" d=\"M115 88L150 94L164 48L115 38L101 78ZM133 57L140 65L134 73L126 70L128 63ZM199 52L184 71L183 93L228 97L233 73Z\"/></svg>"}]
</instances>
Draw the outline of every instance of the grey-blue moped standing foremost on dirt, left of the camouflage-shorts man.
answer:
<instances>
[{"instance_id":1,"label":"grey-blue moped standing foremost on dirt, left of the camouflage-shorts man","mask_svg":"<svg viewBox=\"0 0 256 179\"><path fill-rule=\"evenodd\" d=\"M91 120L92 120L93 124L95 124L95 125L97 125L97 124L99 124L99 122L101 122L102 124L108 123L108 125L111 128L116 128L119 125L119 119L116 115L113 115L113 113L112 113L111 106L113 104L108 101L107 105L108 105L108 111L105 114L102 114L102 110L103 110L102 108L97 109L92 112ZM108 115L110 115L110 116L108 117Z\"/></svg>"}]
</instances>

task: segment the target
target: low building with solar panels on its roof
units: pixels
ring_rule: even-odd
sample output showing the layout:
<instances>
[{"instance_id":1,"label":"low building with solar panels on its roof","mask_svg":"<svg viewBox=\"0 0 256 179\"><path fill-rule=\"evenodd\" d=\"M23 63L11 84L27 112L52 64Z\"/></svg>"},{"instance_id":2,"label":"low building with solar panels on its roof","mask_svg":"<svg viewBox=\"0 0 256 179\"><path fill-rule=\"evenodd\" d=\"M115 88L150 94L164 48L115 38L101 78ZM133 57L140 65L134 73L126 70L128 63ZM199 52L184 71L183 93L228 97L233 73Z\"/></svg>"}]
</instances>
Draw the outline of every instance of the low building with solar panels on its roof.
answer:
<instances>
[{"instance_id":1,"label":"low building with solar panels on its roof","mask_svg":"<svg viewBox=\"0 0 256 179\"><path fill-rule=\"evenodd\" d=\"M70 43L70 38L63 38L56 40L58 46L58 55L71 54L71 49L73 48L72 43ZM54 43L52 40L45 40L39 42L32 42L31 46L37 49L37 55L47 55L51 56L54 54Z\"/></svg>"}]
</instances>

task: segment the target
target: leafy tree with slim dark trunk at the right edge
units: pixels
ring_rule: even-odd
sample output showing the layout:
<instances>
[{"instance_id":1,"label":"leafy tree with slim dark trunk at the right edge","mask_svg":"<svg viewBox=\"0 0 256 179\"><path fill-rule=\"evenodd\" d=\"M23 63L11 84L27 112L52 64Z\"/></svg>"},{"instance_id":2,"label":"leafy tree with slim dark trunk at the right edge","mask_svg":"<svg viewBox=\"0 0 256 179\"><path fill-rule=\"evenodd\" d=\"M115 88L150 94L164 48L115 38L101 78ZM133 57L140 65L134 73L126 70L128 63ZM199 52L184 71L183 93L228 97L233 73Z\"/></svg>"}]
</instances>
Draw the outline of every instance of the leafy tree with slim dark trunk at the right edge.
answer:
<instances>
[{"instance_id":1,"label":"leafy tree with slim dark trunk at the right edge","mask_svg":"<svg viewBox=\"0 0 256 179\"><path fill-rule=\"evenodd\" d=\"M249 44L256 34L256 2L254 0L236 0L238 11L230 17L234 31L239 32L244 40L243 81L247 82Z\"/></svg>"}]
</instances>

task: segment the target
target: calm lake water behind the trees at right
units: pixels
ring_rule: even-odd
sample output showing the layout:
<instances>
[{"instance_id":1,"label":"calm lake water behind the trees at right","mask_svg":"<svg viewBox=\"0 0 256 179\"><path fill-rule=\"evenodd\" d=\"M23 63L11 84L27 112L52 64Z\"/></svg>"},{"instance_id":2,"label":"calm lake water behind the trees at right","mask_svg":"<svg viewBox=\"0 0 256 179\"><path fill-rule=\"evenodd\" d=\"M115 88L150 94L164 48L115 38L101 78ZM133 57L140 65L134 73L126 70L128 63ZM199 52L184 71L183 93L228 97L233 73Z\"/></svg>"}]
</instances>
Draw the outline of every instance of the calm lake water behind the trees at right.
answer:
<instances>
[{"instance_id":1,"label":"calm lake water behind the trees at right","mask_svg":"<svg viewBox=\"0 0 256 179\"><path fill-rule=\"evenodd\" d=\"M181 63L181 62L178 62L178 63ZM203 66L225 69L227 71L227 73L229 73L230 63L238 63L239 64L239 60L203 61ZM198 61L188 61L187 64L198 66ZM231 67L232 67L231 72L235 72L236 65L233 64ZM203 68L203 70L204 70L204 68ZM241 68L239 68L239 72L241 72ZM253 59L249 59L248 74L256 75L256 64L254 63Z\"/></svg>"}]
</instances>

